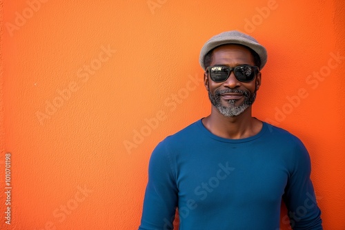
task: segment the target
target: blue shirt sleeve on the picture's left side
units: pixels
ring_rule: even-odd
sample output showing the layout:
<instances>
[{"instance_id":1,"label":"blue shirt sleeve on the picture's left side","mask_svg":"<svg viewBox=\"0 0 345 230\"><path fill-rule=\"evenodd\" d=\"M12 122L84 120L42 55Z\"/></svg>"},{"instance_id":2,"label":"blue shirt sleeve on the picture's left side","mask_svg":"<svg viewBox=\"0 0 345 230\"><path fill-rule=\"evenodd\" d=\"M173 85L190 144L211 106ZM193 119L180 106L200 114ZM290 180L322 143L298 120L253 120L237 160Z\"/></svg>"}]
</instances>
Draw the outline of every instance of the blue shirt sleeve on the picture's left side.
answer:
<instances>
[{"instance_id":1,"label":"blue shirt sleeve on the picture's left side","mask_svg":"<svg viewBox=\"0 0 345 230\"><path fill-rule=\"evenodd\" d=\"M178 195L172 169L170 155L164 143L159 143L150 157L139 230L173 229Z\"/></svg>"}]
</instances>

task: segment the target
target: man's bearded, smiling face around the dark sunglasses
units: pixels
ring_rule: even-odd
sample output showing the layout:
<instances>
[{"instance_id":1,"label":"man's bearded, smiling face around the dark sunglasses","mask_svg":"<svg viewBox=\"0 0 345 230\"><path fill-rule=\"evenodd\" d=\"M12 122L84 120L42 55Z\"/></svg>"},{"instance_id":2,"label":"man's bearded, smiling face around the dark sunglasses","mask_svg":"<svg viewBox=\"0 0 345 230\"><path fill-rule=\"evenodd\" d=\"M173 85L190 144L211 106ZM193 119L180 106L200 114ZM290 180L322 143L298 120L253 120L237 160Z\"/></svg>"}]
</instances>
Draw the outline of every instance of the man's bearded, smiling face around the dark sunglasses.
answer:
<instances>
[{"instance_id":1,"label":"man's bearded, smiling face around the dark sunglasses","mask_svg":"<svg viewBox=\"0 0 345 230\"><path fill-rule=\"evenodd\" d=\"M250 50L242 45L221 45L213 50L213 59L210 66L226 65L255 65ZM208 97L214 107L221 114L228 117L242 114L255 101L255 96L261 84L261 73L253 81L244 83L235 78L234 72L226 81L216 83L210 79L209 73L204 74L204 84L208 90Z\"/></svg>"}]
</instances>

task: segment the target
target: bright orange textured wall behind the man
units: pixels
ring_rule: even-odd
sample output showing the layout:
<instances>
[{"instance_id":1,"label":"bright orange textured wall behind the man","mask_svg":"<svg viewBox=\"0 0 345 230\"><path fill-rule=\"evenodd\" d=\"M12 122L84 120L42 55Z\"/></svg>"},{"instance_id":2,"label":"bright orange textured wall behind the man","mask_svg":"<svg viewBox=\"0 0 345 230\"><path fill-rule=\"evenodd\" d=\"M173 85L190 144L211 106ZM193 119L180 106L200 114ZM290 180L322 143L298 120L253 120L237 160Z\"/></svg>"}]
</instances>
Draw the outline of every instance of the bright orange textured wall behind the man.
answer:
<instances>
[{"instance_id":1,"label":"bright orange textured wall behind the man","mask_svg":"<svg viewBox=\"0 0 345 230\"><path fill-rule=\"evenodd\" d=\"M254 116L303 140L324 228L344 230L344 6L0 1L1 229L137 229L152 149L210 112L201 46L237 29L268 50Z\"/></svg>"}]
</instances>

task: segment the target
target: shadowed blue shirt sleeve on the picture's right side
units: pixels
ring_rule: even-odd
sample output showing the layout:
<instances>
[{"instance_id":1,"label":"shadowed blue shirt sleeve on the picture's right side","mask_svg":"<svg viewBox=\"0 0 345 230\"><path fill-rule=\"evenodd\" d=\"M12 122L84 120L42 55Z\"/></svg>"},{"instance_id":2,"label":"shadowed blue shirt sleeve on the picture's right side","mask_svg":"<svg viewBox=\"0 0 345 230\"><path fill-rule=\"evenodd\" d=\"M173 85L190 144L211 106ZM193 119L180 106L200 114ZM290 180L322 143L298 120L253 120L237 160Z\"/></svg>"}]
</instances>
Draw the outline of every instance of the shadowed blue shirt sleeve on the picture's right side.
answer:
<instances>
[{"instance_id":1,"label":"shadowed blue shirt sleeve on the picture's right side","mask_svg":"<svg viewBox=\"0 0 345 230\"><path fill-rule=\"evenodd\" d=\"M294 230L322 230L321 211L311 182L311 159L300 140L293 152L293 164L283 196Z\"/></svg>"}]
</instances>

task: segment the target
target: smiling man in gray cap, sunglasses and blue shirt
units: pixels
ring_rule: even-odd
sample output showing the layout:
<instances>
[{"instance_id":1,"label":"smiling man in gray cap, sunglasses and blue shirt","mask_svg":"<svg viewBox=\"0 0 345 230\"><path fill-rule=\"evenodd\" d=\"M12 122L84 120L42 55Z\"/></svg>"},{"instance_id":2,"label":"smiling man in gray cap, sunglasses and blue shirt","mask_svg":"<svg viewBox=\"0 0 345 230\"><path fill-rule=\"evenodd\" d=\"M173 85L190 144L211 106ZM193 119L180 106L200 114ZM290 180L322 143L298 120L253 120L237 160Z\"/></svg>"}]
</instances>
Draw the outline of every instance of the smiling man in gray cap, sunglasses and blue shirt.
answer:
<instances>
[{"instance_id":1,"label":"smiling man in gray cap, sunglasses and blue shirt","mask_svg":"<svg viewBox=\"0 0 345 230\"><path fill-rule=\"evenodd\" d=\"M152 152L140 230L277 230L284 200L293 229L322 229L302 142L252 117L266 49L223 32L199 62L212 104L206 118L168 136Z\"/></svg>"}]
</instances>

